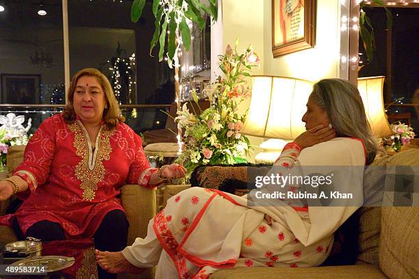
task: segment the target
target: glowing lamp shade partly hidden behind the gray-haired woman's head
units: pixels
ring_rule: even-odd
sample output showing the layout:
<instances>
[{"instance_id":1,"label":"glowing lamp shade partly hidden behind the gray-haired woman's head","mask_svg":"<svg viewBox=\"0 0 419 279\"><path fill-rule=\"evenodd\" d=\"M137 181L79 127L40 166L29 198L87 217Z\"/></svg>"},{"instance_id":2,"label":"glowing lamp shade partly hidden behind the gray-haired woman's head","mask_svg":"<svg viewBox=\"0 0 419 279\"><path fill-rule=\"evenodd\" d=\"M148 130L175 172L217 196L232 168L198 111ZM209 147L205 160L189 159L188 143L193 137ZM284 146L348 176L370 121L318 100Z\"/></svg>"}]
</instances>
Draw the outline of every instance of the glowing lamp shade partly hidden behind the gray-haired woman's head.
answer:
<instances>
[{"instance_id":1,"label":"glowing lamp shade partly hidden behind the gray-haired woman's head","mask_svg":"<svg viewBox=\"0 0 419 279\"><path fill-rule=\"evenodd\" d=\"M387 137L393 134L383 103L384 78L381 76L358 79L358 90L364 102L368 122L370 122L372 134L377 137Z\"/></svg>"}]
</instances>

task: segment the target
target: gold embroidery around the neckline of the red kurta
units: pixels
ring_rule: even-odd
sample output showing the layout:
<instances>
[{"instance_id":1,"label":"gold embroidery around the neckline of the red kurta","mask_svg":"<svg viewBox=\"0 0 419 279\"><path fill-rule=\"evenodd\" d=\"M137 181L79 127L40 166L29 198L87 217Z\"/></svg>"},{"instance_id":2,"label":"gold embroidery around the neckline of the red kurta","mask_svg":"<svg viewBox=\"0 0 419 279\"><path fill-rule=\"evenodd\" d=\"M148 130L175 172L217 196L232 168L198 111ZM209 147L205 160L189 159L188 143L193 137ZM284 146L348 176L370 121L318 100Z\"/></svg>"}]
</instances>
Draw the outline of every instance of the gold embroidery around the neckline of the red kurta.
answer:
<instances>
[{"instance_id":1,"label":"gold embroidery around the neckline of the red kurta","mask_svg":"<svg viewBox=\"0 0 419 279\"><path fill-rule=\"evenodd\" d=\"M110 146L109 138L113 133L112 131L99 131L97 137L96 146L94 150L94 160L89 163L89 159L92 158L92 148L88 144L90 139L86 137L84 133L83 124L76 123L68 125L70 131L74 132L74 147L76 148L76 155L81 157L81 161L77 164L75 169L75 175L80 183L80 188L83 190L84 200L93 200L96 196L97 184L103 180L105 176L105 167L103 166L104 160L110 159L110 152L112 148ZM99 143L98 143L99 142ZM90 168L89 168L90 167Z\"/></svg>"}]
</instances>

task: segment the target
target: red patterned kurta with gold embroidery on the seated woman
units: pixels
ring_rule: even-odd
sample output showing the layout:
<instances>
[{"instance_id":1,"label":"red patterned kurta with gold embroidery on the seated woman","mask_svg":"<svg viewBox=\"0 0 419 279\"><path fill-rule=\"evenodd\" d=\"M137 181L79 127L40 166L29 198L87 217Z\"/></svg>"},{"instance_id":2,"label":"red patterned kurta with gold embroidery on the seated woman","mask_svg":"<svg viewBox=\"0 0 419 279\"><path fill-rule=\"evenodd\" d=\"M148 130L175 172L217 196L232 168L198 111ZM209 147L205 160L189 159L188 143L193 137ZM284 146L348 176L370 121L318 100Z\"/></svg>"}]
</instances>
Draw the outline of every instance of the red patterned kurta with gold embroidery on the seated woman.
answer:
<instances>
[{"instance_id":1,"label":"red patterned kurta with gold embroidery on the seated woman","mask_svg":"<svg viewBox=\"0 0 419 279\"><path fill-rule=\"evenodd\" d=\"M92 237L109 211L123 211L120 187L147 186L154 171L141 137L126 124L111 131L103 126L92 148L79 120L66 124L62 114L52 116L31 137L14 172L27 181L30 192L21 194L21 207L0 217L0 224L10 225L17 217L26 234L34 223L49 220L58 222L69 239Z\"/></svg>"}]
</instances>

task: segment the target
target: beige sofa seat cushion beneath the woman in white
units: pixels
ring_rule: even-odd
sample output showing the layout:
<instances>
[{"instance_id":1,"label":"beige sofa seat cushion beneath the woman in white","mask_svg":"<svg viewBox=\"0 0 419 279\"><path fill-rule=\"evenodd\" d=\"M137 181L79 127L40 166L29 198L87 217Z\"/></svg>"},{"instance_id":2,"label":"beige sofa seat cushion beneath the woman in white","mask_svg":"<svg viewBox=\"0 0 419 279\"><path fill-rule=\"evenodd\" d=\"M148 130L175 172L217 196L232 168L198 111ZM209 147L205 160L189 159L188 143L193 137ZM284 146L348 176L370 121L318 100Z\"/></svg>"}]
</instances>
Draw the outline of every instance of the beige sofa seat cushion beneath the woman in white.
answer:
<instances>
[{"instance_id":1,"label":"beige sofa seat cushion beneath the woman in white","mask_svg":"<svg viewBox=\"0 0 419 279\"><path fill-rule=\"evenodd\" d=\"M334 267L241 267L223 269L210 279L383 279L386 278L375 265L345 265Z\"/></svg>"}]
</instances>

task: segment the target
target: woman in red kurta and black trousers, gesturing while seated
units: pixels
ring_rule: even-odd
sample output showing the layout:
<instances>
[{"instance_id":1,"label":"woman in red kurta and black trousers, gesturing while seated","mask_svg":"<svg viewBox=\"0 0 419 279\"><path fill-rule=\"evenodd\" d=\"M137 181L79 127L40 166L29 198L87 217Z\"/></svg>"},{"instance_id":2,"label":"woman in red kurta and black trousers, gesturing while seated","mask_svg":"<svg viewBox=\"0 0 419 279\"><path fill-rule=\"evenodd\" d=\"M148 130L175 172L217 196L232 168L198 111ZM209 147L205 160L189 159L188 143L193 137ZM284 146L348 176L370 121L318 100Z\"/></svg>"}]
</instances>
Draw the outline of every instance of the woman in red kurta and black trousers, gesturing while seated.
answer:
<instances>
[{"instance_id":1,"label":"woman in red kurta and black trousers, gesturing while seated","mask_svg":"<svg viewBox=\"0 0 419 279\"><path fill-rule=\"evenodd\" d=\"M23 163L0 182L0 200L12 194L24 200L0 224L13 226L20 237L94 237L102 250L125 247L129 224L120 187L155 187L185 172L177 164L149 168L141 138L123 121L107 78L93 68L77 72L64 112L42 122ZM108 275L99 270L101 278Z\"/></svg>"}]
</instances>

